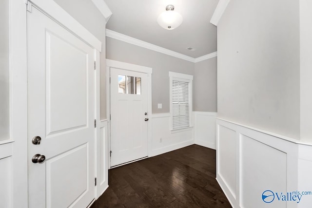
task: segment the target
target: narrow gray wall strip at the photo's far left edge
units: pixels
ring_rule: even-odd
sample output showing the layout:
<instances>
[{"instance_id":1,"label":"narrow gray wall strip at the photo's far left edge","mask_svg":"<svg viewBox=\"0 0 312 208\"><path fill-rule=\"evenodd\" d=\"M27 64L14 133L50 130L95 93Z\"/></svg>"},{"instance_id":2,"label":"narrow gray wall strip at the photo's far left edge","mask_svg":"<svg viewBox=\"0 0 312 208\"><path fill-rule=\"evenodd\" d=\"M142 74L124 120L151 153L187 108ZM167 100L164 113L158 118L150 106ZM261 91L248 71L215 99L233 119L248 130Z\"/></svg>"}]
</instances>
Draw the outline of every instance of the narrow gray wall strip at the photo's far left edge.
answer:
<instances>
[{"instance_id":1,"label":"narrow gray wall strip at the photo's far left edge","mask_svg":"<svg viewBox=\"0 0 312 208\"><path fill-rule=\"evenodd\" d=\"M9 4L0 7L0 141L9 139Z\"/></svg>"}]
</instances>

